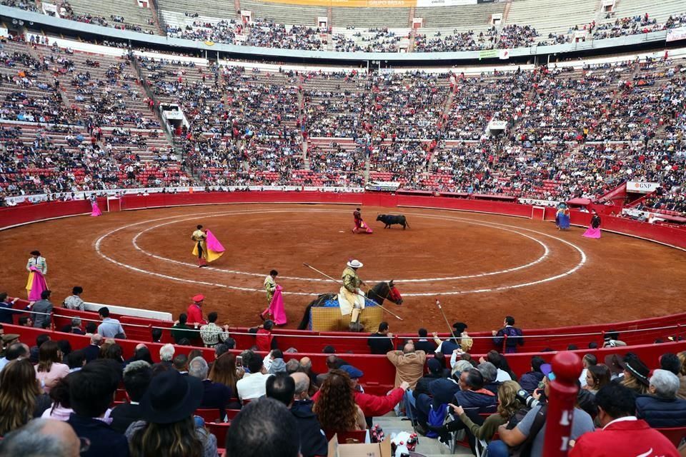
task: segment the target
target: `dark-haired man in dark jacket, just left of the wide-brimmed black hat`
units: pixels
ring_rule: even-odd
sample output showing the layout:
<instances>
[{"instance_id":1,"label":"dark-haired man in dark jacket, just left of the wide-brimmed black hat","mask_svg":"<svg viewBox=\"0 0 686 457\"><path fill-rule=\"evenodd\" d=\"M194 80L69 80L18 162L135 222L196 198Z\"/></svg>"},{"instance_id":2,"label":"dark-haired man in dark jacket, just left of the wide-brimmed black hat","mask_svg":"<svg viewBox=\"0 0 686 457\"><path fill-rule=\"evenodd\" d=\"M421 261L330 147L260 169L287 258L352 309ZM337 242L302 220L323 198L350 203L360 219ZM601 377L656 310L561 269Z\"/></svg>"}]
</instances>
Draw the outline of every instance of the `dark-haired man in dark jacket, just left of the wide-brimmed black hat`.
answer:
<instances>
[{"instance_id":1,"label":"dark-haired man in dark jacket, just left of the wide-brimmed black hat","mask_svg":"<svg viewBox=\"0 0 686 457\"><path fill-rule=\"evenodd\" d=\"M112 409L110 417L114 431L124 433L131 423L141 419L143 411L140 401L151 380L152 367L146 361L133 361L124 368L124 388L129 401Z\"/></svg>"}]
</instances>

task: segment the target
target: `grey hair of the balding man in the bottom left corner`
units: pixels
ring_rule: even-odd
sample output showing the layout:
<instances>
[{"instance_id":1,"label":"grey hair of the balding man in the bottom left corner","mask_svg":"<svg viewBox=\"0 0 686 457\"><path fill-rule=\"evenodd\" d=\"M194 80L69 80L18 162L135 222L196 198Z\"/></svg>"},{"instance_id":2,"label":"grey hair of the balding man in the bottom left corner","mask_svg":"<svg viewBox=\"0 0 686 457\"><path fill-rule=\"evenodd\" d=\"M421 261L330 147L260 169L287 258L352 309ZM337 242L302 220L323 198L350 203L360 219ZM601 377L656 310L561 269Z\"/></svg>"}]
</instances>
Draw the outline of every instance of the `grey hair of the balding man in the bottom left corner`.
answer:
<instances>
[{"instance_id":1,"label":"grey hair of the balding man in the bottom left corner","mask_svg":"<svg viewBox=\"0 0 686 457\"><path fill-rule=\"evenodd\" d=\"M41 433L50 421L54 419L34 419L7 433L0 442L0 457L71 457L59 436Z\"/></svg>"}]
</instances>

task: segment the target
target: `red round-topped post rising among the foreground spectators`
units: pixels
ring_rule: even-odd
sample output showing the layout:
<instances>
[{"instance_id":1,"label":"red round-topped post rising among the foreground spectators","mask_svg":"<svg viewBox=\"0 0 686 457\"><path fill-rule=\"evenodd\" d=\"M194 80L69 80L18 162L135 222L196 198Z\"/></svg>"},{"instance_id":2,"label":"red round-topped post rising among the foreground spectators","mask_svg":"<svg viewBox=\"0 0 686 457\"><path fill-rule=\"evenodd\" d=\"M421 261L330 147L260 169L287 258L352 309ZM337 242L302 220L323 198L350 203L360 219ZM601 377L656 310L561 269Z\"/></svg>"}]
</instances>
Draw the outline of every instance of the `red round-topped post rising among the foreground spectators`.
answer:
<instances>
[{"instance_id":1,"label":"red round-topped post rising among the foreground spectators","mask_svg":"<svg viewBox=\"0 0 686 457\"><path fill-rule=\"evenodd\" d=\"M581 359L573 352L561 352L552 359L555 381L550 383L550 398L545 421L543 455L546 457L567 456L574 405L579 391L577 379L581 370Z\"/></svg>"}]
</instances>

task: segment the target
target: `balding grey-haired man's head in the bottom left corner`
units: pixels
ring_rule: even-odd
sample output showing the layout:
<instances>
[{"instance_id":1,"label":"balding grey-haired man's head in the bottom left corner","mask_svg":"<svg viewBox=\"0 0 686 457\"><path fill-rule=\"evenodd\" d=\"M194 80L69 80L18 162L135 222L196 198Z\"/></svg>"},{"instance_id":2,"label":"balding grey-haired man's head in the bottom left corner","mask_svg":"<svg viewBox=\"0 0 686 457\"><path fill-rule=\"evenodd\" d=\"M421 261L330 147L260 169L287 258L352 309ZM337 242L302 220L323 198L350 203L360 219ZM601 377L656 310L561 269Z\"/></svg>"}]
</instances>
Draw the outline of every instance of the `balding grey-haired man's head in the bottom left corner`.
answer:
<instances>
[{"instance_id":1,"label":"balding grey-haired man's head in the bottom left corner","mask_svg":"<svg viewBox=\"0 0 686 457\"><path fill-rule=\"evenodd\" d=\"M81 441L68 423L34 419L5 435L0 457L79 457Z\"/></svg>"}]
</instances>

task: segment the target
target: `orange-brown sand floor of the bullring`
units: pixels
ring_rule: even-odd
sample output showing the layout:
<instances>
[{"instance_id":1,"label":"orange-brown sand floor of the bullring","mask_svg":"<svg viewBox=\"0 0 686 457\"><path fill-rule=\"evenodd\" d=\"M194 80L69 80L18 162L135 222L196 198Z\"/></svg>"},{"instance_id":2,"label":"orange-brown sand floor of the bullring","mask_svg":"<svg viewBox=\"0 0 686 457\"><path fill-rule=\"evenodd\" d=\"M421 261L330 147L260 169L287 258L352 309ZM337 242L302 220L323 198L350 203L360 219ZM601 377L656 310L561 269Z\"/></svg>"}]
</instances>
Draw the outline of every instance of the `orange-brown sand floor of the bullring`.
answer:
<instances>
[{"instance_id":1,"label":"orange-brown sand floor of the bullring","mask_svg":"<svg viewBox=\"0 0 686 457\"><path fill-rule=\"evenodd\" d=\"M405 214L411 225L383 229L378 212ZM444 331L449 320L472 331L498 328L505 314L524 328L626 321L686 311L686 255L636 238L583 229L559 232L548 222L423 209L363 208L372 235L354 235L352 206L239 204L78 216L0 232L2 287L25 296L26 259L39 249L54 303L72 286L86 301L184 311L196 293L205 313L234 326L259 323L262 281L279 271L289 323L297 326L317 293L335 292L309 263L339 278L349 258L364 263L367 283L394 279L404 304L392 331ZM227 252L197 268L190 236L211 229Z\"/></svg>"}]
</instances>

